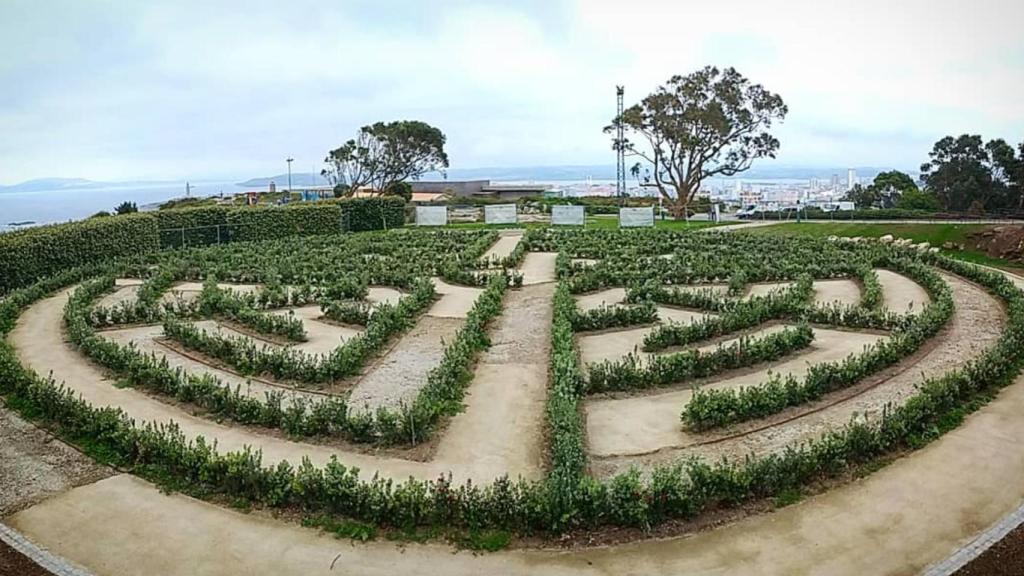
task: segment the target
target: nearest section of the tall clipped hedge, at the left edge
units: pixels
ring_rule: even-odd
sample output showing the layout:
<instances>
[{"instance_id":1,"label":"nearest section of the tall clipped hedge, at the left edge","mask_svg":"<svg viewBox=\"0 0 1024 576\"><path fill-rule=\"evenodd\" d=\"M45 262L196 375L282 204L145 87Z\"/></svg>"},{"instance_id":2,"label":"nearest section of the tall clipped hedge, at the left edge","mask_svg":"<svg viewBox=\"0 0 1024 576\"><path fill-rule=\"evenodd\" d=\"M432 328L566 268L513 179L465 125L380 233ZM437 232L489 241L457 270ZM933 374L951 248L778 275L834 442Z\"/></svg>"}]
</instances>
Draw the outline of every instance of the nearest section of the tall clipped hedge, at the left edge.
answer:
<instances>
[{"instance_id":1,"label":"nearest section of the tall clipped hedge, at the left edge","mask_svg":"<svg viewBox=\"0 0 1024 576\"><path fill-rule=\"evenodd\" d=\"M152 213L90 218L0 234L0 292L78 265L160 249Z\"/></svg>"}]
</instances>

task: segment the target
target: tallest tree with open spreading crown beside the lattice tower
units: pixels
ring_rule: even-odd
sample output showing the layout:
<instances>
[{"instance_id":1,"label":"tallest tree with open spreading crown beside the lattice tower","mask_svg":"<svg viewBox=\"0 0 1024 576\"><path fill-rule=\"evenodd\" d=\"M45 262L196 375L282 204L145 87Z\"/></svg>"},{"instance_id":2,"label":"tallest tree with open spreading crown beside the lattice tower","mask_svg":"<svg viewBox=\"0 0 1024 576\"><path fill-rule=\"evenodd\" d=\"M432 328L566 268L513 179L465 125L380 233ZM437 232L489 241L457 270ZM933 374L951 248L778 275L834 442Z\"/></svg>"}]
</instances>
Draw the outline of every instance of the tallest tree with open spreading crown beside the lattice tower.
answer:
<instances>
[{"instance_id":1,"label":"tallest tree with open spreading crown beside the lattice tower","mask_svg":"<svg viewBox=\"0 0 1024 576\"><path fill-rule=\"evenodd\" d=\"M781 97L734 69L707 67L673 76L605 132L616 134L622 125L629 135L618 139L616 134L612 148L650 165L647 183L679 217L708 178L731 176L758 158L774 158L779 142L768 129L786 112Z\"/></svg>"}]
</instances>

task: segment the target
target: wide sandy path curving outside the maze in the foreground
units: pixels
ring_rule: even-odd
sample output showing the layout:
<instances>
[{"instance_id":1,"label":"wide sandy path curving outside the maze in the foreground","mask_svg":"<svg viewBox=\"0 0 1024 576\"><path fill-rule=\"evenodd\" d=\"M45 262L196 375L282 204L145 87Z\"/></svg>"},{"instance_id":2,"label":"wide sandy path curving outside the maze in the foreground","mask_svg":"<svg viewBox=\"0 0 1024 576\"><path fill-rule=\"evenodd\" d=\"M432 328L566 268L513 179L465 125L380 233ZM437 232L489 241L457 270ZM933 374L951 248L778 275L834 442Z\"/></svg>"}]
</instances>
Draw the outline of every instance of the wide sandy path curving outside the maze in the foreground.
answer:
<instances>
[{"instance_id":1,"label":"wide sandy path curving outside the maze in the foreground","mask_svg":"<svg viewBox=\"0 0 1024 576\"><path fill-rule=\"evenodd\" d=\"M475 556L441 544L353 544L126 476L8 523L96 576L898 576L944 559L1024 501L1022 413L1024 376L959 428L863 480L716 530L611 547Z\"/></svg>"}]
</instances>

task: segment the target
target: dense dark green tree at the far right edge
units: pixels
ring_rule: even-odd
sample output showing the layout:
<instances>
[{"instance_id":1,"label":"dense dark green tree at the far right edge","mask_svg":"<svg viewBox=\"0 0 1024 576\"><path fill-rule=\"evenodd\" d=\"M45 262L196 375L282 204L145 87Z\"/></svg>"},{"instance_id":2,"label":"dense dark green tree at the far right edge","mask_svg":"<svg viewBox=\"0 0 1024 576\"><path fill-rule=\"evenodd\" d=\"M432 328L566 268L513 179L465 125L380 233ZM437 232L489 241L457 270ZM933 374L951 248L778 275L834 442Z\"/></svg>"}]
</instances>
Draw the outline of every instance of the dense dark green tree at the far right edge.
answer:
<instances>
[{"instance_id":1,"label":"dense dark green tree at the far right edge","mask_svg":"<svg viewBox=\"0 0 1024 576\"><path fill-rule=\"evenodd\" d=\"M921 178L942 207L956 211L1021 210L1024 205L1024 142L1020 154L1002 139L946 136L935 142Z\"/></svg>"}]
</instances>

